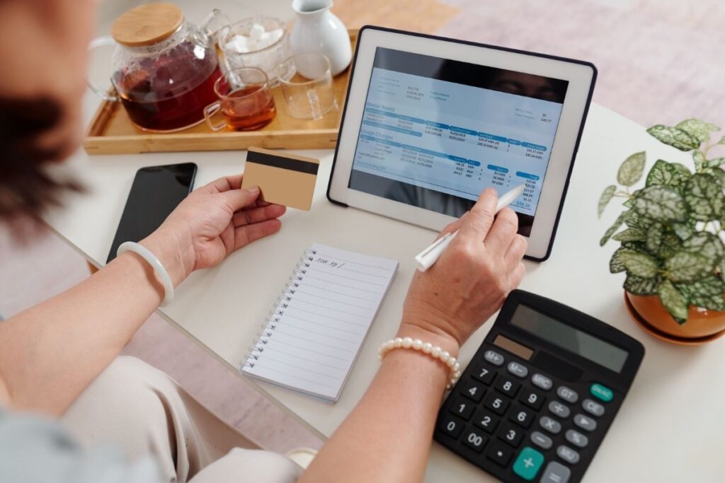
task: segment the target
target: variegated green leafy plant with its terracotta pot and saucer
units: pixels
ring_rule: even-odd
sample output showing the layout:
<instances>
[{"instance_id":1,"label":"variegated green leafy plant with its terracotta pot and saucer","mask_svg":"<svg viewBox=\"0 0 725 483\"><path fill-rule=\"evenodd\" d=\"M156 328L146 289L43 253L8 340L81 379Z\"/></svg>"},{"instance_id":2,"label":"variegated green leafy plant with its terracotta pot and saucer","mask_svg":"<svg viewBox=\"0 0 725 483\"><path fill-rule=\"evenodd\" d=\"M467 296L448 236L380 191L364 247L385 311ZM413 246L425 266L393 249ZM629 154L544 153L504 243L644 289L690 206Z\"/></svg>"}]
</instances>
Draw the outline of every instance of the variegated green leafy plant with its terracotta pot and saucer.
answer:
<instances>
[{"instance_id":1,"label":"variegated green leafy plant with its terracotta pot and saucer","mask_svg":"<svg viewBox=\"0 0 725 483\"><path fill-rule=\"evenodd\" d=\"M616 240L609 269L624 272L630 314L660 338L702 343L725 333L725 158L711 156L720 128L698 119L647 130L662 143L692 151L694 171L658 159L644 186L645 152L629 156L617 173L618 185L605 188L599 216L613 198L624 211L600 245Z\"/></svg>"}]
</instances>

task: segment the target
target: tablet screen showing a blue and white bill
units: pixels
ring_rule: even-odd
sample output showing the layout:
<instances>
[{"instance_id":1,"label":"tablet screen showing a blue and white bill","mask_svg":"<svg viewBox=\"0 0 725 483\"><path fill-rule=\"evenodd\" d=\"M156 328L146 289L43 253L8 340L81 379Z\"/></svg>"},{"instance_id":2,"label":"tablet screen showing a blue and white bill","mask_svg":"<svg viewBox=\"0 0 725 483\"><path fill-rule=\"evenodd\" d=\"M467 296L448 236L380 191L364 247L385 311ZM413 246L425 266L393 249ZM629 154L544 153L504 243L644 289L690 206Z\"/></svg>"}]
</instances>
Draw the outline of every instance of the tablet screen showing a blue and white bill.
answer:
<instances>
[{"instance_id":1,"label":"tablet screen showing a blue and white bill","mask_svg":"<svg viewBox=\"0 0 725 483\"><path fill-rule=\"evenodd\" d=\"M378 47L349 188L460 217L488 186L529 235L568 82Z\"/></svg>"}]
</instances>

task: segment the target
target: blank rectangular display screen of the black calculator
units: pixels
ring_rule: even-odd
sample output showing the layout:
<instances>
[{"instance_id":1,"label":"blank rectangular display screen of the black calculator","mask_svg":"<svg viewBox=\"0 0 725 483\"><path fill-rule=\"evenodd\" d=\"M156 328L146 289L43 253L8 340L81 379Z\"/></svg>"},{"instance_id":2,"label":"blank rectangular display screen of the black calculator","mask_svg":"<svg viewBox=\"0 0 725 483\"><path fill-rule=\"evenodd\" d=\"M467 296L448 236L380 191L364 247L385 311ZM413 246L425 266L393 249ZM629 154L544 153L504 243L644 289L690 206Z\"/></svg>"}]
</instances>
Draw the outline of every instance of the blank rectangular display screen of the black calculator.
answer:
<instances>
[{"instance_id":1,"label":"blank rectangular display screen of the black calculator","mask_svg":"<svg viewBox=\"0 0 725 483\"><path fill-rule=\"evenodd\" d=\"M629 356L626 350L616 345L574 329L527 306L519 305L516 308L511 324L615 372L622 370Z\"/></svg>"}]
</instances>

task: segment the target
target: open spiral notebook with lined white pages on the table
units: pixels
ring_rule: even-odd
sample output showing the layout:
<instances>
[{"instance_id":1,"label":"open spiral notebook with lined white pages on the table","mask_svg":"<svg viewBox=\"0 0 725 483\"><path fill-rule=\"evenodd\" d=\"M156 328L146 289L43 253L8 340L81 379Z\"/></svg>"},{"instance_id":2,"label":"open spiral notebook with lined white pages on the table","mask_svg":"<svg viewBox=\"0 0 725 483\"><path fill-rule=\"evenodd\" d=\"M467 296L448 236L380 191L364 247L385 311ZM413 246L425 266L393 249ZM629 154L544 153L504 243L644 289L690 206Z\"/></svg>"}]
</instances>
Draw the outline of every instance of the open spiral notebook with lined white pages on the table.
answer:
<instances>
[{"instance_id":1,"label":"open spiral notebook with lined white pages on the table","mask_svg":"<svg viewBox=\"0 0 725 483\"><path fill-rule=\"evenodd\" d=\"M398 262L315 243L249 350L250 377L338 400Z\"/></svg>"}]
</instances>

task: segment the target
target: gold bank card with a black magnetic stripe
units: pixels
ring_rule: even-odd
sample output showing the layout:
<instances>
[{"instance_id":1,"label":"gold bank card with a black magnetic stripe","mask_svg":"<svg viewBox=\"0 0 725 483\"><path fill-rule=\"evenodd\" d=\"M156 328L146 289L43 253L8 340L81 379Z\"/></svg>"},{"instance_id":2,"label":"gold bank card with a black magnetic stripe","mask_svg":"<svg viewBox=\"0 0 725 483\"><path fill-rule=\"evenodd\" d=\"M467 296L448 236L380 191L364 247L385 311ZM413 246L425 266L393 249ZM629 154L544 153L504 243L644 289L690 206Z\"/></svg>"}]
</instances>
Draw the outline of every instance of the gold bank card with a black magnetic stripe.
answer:
<instances>
[{"instance_id":1,"label":"gold bank card with a black magnetic stripe","mask_svg":"<svg viewBox=\"0 0 725 483\"><path fill-rule=\"evenodd\" d=\"M262 199L310 211L320 161L262 148L249 148L242 188L259 186Z\"/></svg>"}]
</instances>

